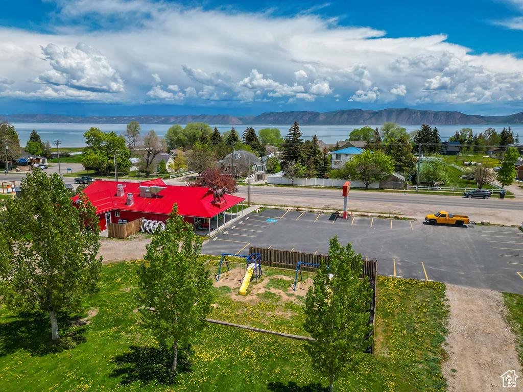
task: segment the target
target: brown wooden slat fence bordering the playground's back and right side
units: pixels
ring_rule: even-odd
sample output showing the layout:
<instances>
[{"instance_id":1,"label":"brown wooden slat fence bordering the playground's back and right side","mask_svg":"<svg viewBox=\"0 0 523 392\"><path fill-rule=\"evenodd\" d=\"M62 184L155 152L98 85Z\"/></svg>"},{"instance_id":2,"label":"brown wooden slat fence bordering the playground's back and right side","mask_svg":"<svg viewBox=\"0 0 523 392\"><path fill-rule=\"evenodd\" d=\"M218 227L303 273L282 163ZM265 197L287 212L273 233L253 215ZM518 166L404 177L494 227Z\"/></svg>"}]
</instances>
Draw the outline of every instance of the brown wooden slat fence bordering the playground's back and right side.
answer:
<instances>
[{"instance_id":1,"label":"brown wooden slat fence bordering the playground's back and right side","mask_svg":"<svg viewBox=\"0 0 523 392\"><path fill-rule=\"evenodd\" d=\"M298 263L320 264L323 259L325 263L329 264L328 255L313 255L312 253L295 252L291 250L281 250L272 248L259 248L257 246L249 246L249 254L259 253L261 255L260 262L265 266L285 268L295 270L298 268ZM372 330L367 338L376 335L376 277L378 275L378 261L377 260L362 260L363 269L360 278L363 276L369 277L369 290L372 291L370 301L370 315L369 324L372 324ZM316 268L312 266L300 266L302 270L314 271ZM368 353L374 353L374 340L367 347Z\"/></svg>"}]
</instances>

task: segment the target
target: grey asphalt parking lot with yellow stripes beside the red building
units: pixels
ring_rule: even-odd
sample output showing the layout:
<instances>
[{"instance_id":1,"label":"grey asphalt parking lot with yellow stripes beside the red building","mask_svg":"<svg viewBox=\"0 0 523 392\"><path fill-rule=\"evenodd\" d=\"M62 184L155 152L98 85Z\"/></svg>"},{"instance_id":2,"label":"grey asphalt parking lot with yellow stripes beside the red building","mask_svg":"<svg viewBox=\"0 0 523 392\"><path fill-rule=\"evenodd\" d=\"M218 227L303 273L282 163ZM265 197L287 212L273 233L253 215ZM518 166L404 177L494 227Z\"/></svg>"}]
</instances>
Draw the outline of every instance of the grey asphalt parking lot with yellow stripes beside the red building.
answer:
<instances>
[{"instance_id":1,"label":"grey asphalt parking lot with yellow stripes beside the red building","mask_svg":"<svg viewBox=\"0 0 523 392\"><path fill-rule=\"evenodd\" d=\"M436 225L389 218L265 210L245 216L202 253L248 255L249 245L327 254L329 238L378 260L380 275L523 294L523 232L514 227Z\"/></svg>"}]
</instances>

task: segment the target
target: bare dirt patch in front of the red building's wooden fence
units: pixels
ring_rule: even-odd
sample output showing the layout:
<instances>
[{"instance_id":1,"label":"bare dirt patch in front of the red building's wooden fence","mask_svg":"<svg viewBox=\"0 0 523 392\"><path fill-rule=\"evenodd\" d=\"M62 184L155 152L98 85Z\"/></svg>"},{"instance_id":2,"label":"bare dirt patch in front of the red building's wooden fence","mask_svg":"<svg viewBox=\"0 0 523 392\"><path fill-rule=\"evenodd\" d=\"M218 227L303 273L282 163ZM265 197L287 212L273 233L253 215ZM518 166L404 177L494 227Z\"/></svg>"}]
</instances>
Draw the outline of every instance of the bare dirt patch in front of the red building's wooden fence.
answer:
<instances>
[{"instance_id":1,"label":"bare dirt patch in front of the red building's wooden fence","mask_svg":"<svg viewBox=\"0 0 523 392\"><path fill-rule=\"evenodd\" d=\"M145 245L151 243L151 239L142 234L136 234L127 239L101 237L98 256L104 256L103 264L141 260L147 252Z\"/></svg>"}]
</instances>

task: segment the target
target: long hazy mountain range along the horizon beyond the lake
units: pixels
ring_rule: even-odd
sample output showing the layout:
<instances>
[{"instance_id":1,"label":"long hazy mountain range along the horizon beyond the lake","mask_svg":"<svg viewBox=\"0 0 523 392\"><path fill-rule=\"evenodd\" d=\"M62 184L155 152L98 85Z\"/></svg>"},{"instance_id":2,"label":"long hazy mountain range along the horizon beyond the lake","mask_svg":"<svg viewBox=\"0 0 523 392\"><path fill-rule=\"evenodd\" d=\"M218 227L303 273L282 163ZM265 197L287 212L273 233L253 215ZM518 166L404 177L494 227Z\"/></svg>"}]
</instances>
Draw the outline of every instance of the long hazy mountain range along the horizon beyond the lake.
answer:
<instances>
[{"instance_id":1,"label":"long hazy mountain range along the horizon beyond the lake","mask_svg":"<svg viewBox=\"0 0 523 392\"><path fill-rule=\"evenodd\" d=\"M186 114L183 116L66 116L64 114L6 114L8 122L80 123L80 124L187 124L204 122L211 125L282 125L298 121L301 125L366 125L395 122L401 125L453 124L521 124L523 112L509 116L479 116L457 111L416 109L335 110L329 112L285 111L261 113L258 116L230 116L228 114Z\"/></svg>"}]
</instances>

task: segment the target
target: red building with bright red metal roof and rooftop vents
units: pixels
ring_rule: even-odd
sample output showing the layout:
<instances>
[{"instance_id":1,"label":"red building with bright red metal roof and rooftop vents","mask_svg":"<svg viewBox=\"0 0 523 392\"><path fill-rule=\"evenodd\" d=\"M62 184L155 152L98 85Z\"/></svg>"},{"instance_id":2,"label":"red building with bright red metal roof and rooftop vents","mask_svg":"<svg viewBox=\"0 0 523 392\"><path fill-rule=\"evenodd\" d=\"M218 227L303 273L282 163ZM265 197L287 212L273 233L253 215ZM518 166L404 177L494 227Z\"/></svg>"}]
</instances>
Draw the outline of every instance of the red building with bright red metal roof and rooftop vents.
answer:
<instances>
[{"instance_id":1,"label":"red building with bright red metal roof and rooftop vents","mask_svg":"<svg viewBox=\"0 0 523 392\"><path fill-rule=\"evenodd\" d=\"M107 223L119 220L131 222L146 218L165 222L175 203L184 221L199 224L204 220L209 227L210 220L217 220L245 200L226 194L221 202L214 201L212 189L167 185L161 178L142 182L96 180L84 189L84 193L96 207L101 230L107 228ZM73 198L73 201L77 200L78 195Z\"/></svg>"}]
</instances>

